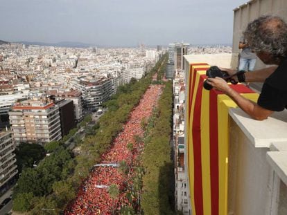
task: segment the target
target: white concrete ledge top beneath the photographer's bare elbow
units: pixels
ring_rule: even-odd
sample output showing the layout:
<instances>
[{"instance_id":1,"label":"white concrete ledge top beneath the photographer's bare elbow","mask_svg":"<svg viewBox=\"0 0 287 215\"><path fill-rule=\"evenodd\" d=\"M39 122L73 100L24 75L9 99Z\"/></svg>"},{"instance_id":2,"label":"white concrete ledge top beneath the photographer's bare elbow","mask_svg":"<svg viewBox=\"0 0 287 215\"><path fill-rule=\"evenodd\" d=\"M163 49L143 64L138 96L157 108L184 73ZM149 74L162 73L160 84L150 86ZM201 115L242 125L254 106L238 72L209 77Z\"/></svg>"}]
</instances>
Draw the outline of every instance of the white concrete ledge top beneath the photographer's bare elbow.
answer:
<instances>
[{"instance_id":1,"label":"white concrete ledge top beneath the photographer's bare elbow","mask_svg":"<svg viewBox=\"0 0 287 215\"><path fill-rule=\"evenodd\" d=\"M239 108L229 109L229 115L255 148L270 148L273 142L286 142L287 147L287 110L275 112L263 121L253 120Z\"/></svg>"}]
</instances>

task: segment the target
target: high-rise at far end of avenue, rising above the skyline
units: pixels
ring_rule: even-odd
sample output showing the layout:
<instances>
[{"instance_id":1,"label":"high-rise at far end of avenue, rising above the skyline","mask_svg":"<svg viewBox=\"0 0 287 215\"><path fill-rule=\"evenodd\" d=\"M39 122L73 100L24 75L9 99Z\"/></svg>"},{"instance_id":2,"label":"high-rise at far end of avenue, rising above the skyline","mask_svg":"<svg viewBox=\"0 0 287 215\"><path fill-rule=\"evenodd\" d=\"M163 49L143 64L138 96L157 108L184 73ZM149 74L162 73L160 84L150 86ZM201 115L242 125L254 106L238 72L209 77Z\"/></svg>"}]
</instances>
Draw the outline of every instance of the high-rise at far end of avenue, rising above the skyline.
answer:
<instances>
[{"instance_id":1,"label":"high-rise at far end of avenue, rising above the skyline","mask_svg":"<svg viewBox=\"0 0 287 215\"><path fill-rule=\"evenodd\" d=\"M187 55L187 53L189 53L188 43L168 44L166 78L173 79L177 69L184 69L183 55Z\"/></svg>"}]
</instances>

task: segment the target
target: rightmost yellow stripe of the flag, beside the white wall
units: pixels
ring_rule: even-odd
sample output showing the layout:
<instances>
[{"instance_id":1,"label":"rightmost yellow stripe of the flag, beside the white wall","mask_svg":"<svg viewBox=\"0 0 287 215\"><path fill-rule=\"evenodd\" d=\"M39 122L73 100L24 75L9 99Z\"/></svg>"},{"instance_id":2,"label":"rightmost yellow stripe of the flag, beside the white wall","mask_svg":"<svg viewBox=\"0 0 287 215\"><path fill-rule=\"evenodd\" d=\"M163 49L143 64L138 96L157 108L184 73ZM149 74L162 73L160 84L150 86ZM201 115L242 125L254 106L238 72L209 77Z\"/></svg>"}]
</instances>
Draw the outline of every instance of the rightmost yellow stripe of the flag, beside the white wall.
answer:
<instances>
[{"instance_id":1,"label":"rightmost yellow stripe of the flag, beside the white wall","mask_svg":"<svg viewBox=\"0 0 287 215\"><path fill-rule=\"evenodd\" d=\"M257 93L243 93L243 97L256 101ZM227 95L218 95L218 176L219 176L219 214L227 215L228 191L228 149L229 114L228 109L237 105Z\"/></svg>"}]
</instances>

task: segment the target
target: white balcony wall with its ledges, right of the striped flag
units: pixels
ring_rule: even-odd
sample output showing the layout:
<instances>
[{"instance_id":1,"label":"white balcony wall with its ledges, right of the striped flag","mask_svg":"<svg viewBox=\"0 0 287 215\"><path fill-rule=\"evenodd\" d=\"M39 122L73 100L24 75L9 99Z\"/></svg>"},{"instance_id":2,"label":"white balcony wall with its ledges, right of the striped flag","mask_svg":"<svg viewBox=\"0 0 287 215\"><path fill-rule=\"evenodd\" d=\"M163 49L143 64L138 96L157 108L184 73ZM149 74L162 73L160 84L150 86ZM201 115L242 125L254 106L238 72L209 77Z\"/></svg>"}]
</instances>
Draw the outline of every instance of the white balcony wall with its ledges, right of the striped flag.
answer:
<instances>
[{"instance_id":1,"label":"white balcony wall with its ledges, right of the striped flag","mask_svg":"<svg viewBox=\"0 0 287 215\"><path fill-rule=\"evenodd\" d=\"M276 153L287 150L287 110L264 121L252 120L241 109L229 114L229 215L286 215L287 154ZM284 147L274 152L273 142Z\"/></svg>"}]
</instances>

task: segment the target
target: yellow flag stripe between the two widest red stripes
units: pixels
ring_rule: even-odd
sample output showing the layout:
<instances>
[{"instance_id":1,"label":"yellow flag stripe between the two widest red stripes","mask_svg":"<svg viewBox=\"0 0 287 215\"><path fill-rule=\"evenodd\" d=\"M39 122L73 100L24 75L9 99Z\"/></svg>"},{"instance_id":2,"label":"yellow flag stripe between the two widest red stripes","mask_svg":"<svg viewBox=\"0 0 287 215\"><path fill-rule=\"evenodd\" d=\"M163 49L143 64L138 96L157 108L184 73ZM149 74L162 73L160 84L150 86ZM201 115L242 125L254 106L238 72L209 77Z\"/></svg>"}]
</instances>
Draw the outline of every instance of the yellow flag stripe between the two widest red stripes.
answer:
<instances>
[{"instance_id":1,"label":"yellow flag stripe between the two widest red stripes","mask_svg":"<svg viewBox=\"0 0 287 215\"><path fill-rule=\"evenodd\" d=\"M209 92L202 90L201 101L201 162L203 214L211 214L210 142L209 142Z\"/></svg>"}]
</instances>

